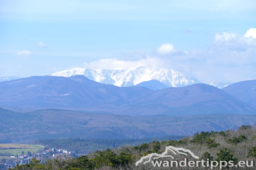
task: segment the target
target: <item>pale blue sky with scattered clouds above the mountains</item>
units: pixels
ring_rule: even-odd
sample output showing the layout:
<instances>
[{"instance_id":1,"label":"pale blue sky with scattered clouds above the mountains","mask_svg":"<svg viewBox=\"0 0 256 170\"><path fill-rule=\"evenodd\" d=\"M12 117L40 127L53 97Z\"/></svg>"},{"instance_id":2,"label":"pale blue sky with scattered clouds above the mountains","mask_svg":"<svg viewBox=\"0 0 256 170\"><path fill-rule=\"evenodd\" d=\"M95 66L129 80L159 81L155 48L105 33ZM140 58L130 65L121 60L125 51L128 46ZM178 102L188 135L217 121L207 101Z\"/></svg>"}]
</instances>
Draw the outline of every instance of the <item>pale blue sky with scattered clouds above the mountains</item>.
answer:
<instances>
[{"instance_id":1,"label":"pale blue sky with scattered clouds above the mountains","mask_svg":"<svg viewBox=\"0 0 256 170\"><path fill-rule=\"evenodd\" d=\"M256 79L256 1L0 1L0 77L142 64Z\"/></svg>"}]
</instances>

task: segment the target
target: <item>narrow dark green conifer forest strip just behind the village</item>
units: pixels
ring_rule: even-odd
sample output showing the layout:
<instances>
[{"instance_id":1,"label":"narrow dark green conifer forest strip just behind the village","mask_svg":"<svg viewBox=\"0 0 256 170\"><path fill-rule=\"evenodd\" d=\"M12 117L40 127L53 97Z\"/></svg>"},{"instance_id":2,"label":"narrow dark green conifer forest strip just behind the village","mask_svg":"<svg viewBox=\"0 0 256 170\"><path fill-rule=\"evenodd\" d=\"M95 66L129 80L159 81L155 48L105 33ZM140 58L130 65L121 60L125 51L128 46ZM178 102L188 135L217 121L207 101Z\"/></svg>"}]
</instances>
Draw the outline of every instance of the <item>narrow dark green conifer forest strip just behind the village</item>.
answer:
<instances>
[{"instance_id":1,"label":"narrow dark green conifer forest strip just behind the village","mask_svg":"<svg viewBox=\"0 0 256 170\"><path fill-rule=\"evenodd\" d=\"M164 141L169 139L179 140L184 136L164 136L142 139L88 139L88 138L69 138L69 139L40 139L33 144L44 145L47 148L62 148L77 153L89 153L96 150L104 150L106 148L116 148L119 146L136 146L142 143L152 141Z\"/></svg>"}]
</instances>

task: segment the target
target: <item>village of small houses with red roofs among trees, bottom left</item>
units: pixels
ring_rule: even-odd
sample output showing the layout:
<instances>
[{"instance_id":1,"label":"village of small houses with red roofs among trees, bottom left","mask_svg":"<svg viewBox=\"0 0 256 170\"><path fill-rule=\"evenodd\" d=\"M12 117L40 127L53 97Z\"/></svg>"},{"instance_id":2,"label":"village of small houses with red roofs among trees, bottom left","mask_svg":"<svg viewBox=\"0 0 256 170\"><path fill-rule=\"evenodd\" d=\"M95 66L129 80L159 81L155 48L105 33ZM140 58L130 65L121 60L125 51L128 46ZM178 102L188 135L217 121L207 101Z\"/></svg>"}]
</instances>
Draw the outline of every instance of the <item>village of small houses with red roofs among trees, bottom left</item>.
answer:
<instances>
[{"instance_id":1,"label":"village of small houses with red roofs among trees, bottom left","mask_svg":"<svg viewBox=\"0 0 256 170\"><path fill-rule=\"evenodd\" d=\"M40 150L39 150L40 151ZM13 168L17 165L25 165L28 164L32 159L41 160L41 163L44 163L48 159L57 159L57 158L72 158L72 157L79 157L80 155L69 151L67 149L47 149L44 148L44 151L40 151L38 153L31 153L27 152L22 153L20 155L10 156L10 158L2 159L2 162L0 162L0 170L6 169L6 168Z\"/></svg>"}]
</instances>

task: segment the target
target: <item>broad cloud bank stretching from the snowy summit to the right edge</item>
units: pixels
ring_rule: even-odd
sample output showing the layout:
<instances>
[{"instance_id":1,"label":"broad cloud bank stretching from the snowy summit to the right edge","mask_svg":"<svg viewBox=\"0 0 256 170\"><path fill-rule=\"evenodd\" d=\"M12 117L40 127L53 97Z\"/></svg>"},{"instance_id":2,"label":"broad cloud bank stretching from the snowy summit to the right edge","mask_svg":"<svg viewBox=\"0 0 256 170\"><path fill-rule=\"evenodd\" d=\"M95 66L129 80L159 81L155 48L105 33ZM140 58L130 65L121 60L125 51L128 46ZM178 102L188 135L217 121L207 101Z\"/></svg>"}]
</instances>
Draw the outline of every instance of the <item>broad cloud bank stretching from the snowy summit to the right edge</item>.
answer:
<instances>
[{"instance_id":1,"label":"broad cloud bank stretching from the snowy summit to the right edge","mask_svg":"<svg viewBox=\"0 0 256 170\"><path fill-rule=\"evenodd\" d=\"M256 39L237 33L215 33L208 49L181 51L166 43L156 48L156 53L153 51L150 55L138 55L140 59L131 59L130 56L132 54L118 55L85 66L99 69L156 65L195 76L205 83L256 79Z\"/></svg>"}]
</instances>

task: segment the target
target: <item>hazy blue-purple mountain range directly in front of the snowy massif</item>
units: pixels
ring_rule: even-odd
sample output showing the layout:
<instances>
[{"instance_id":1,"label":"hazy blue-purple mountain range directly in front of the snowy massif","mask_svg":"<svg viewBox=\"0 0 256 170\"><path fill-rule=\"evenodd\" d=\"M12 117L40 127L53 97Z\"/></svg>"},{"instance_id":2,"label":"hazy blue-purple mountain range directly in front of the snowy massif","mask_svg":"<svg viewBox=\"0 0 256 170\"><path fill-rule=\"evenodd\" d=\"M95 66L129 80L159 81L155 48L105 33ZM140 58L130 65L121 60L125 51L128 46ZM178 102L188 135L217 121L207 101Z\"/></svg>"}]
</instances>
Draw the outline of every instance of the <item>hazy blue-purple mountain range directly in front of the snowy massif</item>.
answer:
<instances>
[{"instance_id":1,"label":"hazy blue-purple mountain range directly in front of the snowy massif","mask_svg":"<svg viewBox=\"0 0 256 170\"><path fill-rule=\"evenodd\" d=\"M119 115L256 114L255 106L205 84L151 90L117 87L77 75L33 76L0 83L0 107L59 108Z\"/></svg>"}]
</instances>

